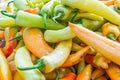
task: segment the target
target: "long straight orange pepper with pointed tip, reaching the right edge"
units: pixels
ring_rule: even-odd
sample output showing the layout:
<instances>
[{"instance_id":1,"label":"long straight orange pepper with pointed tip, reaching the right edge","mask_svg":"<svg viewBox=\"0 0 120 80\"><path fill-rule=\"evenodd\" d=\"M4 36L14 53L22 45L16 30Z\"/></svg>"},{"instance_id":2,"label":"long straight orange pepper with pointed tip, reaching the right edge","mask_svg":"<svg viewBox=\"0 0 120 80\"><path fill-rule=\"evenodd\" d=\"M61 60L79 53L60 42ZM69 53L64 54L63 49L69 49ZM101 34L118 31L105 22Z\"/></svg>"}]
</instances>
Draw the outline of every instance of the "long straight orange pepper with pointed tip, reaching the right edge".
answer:
<instances>
[{"instance_id":1,"label":"long straight orange pepper with pointed tip, reaching the right edge","mask_svg":"<svg viewBox=\"0 0 120 80\"><path fill-rule=\"evenodd\" d=\"M107 59L120 65L120 44L96 34L82 26L69 23L71 30L86 44L92 46Z\"/></svg>"}]
</instances>

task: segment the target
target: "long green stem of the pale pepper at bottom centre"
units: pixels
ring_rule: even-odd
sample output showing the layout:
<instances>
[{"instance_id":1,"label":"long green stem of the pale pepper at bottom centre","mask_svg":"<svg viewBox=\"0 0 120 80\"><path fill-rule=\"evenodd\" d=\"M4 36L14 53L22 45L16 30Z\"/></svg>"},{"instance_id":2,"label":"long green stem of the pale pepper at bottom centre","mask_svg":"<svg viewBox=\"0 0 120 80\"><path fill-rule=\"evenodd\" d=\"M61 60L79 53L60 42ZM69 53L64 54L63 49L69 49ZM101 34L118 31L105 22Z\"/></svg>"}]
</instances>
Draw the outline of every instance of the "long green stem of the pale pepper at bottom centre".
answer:
<instances>
[{"instance_id":1,"label":"long green stem of the pale pepper at bottom centre","mask_svg":"<svg viewBox=\"0 0 120 80\"><path fill-rule=\"evenodd\" d=\"M44 65L44 60L40 59L39 62L31 67L18 67L19 70L32 70L38 68L41 72L45 72L45 65Z\"/></svg>"}]
</instances>

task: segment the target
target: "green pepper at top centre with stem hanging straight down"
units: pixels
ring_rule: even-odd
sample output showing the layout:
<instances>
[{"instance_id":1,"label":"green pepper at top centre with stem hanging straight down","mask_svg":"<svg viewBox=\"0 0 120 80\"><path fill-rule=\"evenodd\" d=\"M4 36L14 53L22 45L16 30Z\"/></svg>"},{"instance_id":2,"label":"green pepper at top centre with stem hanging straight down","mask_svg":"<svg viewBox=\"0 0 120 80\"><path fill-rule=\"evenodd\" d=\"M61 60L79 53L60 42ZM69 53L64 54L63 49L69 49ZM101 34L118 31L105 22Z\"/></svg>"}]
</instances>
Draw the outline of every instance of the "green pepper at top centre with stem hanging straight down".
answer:
<instances>
[{"instance_id":1,"label":"green pepper at top centre with stem hanging straight down","mask_svg":"<svg viewBox=\"0 0 120 80\"><path fill-rule=\"evenodd\" d=\"M41 8L40 14L44 18L44 26L46 29L47 29L46 17L52 15L54 7L59 3L60 3L59 0L51 0Z\"/></svg>"}]
</instances>

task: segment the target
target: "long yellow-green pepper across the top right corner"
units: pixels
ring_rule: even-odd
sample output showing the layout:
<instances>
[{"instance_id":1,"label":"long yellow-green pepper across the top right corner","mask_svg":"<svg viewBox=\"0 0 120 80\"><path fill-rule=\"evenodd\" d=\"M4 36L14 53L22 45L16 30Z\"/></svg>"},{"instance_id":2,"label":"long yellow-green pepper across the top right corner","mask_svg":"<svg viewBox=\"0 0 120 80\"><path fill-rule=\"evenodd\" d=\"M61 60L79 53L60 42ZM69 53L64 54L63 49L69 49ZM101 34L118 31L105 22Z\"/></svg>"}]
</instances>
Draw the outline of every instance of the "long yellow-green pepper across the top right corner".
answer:
<instances>
[{"instance_id":1,"label":"long yellow-green pepper across the top right corner","mask_svg":"<svg viewBox=\"0 0 120 80\"><path fill-rule=\"evenodd\" d=\"M61 0L61 3L83 11L95 13L114 24L120 25L120 15L99 0Z\"/></svg>"}]
</instances>

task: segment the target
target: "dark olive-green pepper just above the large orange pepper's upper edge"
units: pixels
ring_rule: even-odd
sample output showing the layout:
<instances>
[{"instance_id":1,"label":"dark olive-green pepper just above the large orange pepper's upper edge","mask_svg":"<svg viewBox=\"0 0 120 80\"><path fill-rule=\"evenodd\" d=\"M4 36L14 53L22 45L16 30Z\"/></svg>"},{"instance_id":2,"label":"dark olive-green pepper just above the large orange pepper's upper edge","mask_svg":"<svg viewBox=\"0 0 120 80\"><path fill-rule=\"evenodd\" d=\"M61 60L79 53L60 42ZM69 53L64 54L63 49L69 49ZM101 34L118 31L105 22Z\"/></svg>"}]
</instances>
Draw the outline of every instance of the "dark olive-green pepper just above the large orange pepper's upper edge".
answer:
<instances>
[{"instance_id":1,"label":"dark olive-green pepper just above the large orange pepper's upper edge","mask_svg":"<svg viewBox=\"0 0 120 80\"><path fill-rule=\"evenodd\" d=\"M89 20L89 19L81 19L81 23L84 27L92 30L92 31L95 31L97 29L99 29L104 23L105 21L93 21L93 20Z\"/></svg>"}]
</instances>

